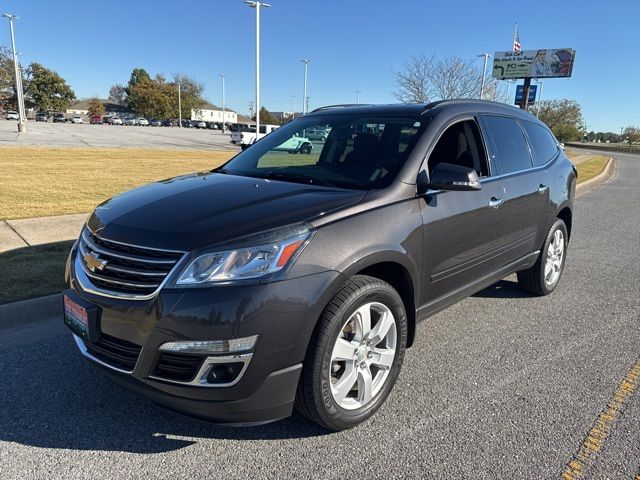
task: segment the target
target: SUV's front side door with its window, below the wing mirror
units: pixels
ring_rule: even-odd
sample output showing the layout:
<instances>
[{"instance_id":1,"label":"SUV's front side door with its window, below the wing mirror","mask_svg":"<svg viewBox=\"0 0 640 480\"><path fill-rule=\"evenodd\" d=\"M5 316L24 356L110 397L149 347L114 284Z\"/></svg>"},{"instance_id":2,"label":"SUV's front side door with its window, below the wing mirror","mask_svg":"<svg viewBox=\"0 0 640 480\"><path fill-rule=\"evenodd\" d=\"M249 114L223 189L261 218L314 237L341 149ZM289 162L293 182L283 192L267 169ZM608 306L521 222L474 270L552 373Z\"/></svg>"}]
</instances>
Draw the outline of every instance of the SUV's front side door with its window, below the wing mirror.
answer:
<instances>
[{"instance_id":1,"label":"SUV's front side door with its window, below the wing mirror","mask_svg":"<svg viewBox=\"0 0 640 480\"><path fill-rule=\"evenodd\" d=\"M487 162L485 142L473 117L456 119L431 150L427 169L438 163L474 168L477 191L429 190L423 197L423 295L428 304L497 270L505 234L505 190Z\"/></svg>"}]
</instances>

